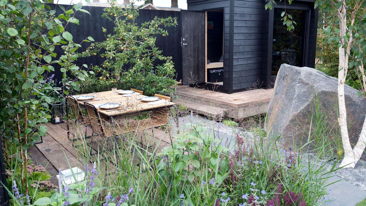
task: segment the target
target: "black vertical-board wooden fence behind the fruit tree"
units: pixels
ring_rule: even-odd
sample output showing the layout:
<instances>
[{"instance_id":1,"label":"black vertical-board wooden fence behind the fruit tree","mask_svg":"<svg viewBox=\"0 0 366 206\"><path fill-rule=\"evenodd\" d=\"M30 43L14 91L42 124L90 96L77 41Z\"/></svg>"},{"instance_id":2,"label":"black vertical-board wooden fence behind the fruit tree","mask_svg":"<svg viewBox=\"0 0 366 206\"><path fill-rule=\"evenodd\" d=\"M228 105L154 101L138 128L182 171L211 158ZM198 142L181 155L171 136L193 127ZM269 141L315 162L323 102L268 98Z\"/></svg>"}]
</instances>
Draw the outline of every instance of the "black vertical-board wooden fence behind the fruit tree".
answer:
<instances>
[{"instance_id":1,"label":"black vertical-board wooden fence behind the fruit tree","mask_svg":"<svg viewBox=\"0 0 366 206\"><path fill-rule=\"evenodd\" d=\"M70 7L69 5L63 5L65 8ZM50 5L51 9L55 8L55 4ZM66 26L66 31L70 32L73 36L73 41L75 43L81 43L82 40L86 39L88 36L94 38L96 42L101 42L106 39L105 35L113 33L114 23L109 21L108 19L102 18L102 14L104 13L105 7L92 7L92 6L83 6L82 9L89 11L89 14L83 12L76 12L75 18L79 19L79 25L74 23L70 23ZM56 8L56 15L63 13L60 7ZM136 23L140 25L143 22L153 20L157 17L167 18L177 17L178 25L165 27L168 31L168 36L158 35L156 37L156 47L162 50L162 55L164 56L172 56L172 60L175 63L175 70L178 73L178 81L181 79L181 65L182 65L182 48L180 46L180 37L182 33L182 27L180 26L180 12L179 11L165 11L165 10L147 10L141 9L139 10L139 16L136 19ZM106 33L102 32L102 27L107 29ZM78 52L83 52L87 50L91 43L83 43L82 47L79 48ZM57 50L57 51L56 51ZM55 51L57 55L63 55L63 50L60 47L56 47ZM93 65L101 65L105 59L100 56L90 56L87 58L79 58L75 61L76 65L82 66L86 64L90 66ZM159 63L159 62L157 62ZM59 65L52 65L55 67L55 80L59 82L62 78L62 73L60 72Z\"/></svg>"}]
</instances>

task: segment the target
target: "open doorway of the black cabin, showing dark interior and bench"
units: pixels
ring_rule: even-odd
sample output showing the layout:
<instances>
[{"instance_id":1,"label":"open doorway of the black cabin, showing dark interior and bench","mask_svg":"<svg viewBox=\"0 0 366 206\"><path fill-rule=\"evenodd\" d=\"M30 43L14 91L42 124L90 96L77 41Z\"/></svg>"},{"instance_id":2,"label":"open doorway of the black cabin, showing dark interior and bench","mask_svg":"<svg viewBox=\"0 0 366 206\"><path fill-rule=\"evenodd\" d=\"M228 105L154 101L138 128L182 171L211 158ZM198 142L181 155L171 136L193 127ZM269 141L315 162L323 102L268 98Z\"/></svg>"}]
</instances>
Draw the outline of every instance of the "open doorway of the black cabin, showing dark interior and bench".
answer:
<instances>
[{"instance_id":1,"label":"open doorway of the black cabin, showing dark interior and bench","mask_svg":"<svg viewBox=\"0 0 366 206\"><path fill-rule=\"evenodd\" d=\"M206 11L206 82L223 85L224 10Z\"/></svg>"}]
</instances>

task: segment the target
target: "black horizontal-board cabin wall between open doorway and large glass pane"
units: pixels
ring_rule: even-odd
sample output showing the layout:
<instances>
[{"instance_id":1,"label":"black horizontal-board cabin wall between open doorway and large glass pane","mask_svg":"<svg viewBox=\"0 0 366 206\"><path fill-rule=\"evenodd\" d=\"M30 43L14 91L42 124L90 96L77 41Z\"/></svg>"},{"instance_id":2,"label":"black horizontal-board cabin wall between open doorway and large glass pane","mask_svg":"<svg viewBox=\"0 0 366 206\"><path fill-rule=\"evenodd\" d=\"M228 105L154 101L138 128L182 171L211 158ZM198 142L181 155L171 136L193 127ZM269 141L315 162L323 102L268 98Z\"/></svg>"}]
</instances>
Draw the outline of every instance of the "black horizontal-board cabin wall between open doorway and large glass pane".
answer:
<instances>
[{"instance_id":1,"label":"black horizontal-board cabin wall between open doorway and large glass pane","mask_svg":"<svg viewBox=\"0 0 366 206\"><path fill-rule=\"evenodd\" d=\"M262 0L235 0L234 6L233 90L238 90L265 77L268 12Z\"/></svg>"}]
</instances>

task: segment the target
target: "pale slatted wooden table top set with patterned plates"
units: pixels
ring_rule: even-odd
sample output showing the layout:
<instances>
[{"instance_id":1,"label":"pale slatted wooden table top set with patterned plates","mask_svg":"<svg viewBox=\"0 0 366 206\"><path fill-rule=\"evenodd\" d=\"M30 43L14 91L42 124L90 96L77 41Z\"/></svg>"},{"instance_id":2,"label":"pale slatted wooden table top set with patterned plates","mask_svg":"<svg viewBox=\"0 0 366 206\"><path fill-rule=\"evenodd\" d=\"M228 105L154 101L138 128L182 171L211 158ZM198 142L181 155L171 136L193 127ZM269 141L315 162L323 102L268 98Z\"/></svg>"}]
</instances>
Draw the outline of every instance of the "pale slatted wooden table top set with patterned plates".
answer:
<instances>
[{"instance_id":1,"label":"pale slatted wooden table top set with patterned plates","mask_svg":"<svg viewBox=\"0 0 366 206\"><path fill-rule=\"evenodd\" d=\"M121 89L117 90L121 91ZM160 104L148 104L147 102L143 102L140 100L140 98L146 97L145 95L135 95L135 96L122 96L118 93L113 95L112 91L105 91L105 92L98 92L100 93L100 100L94 100L89 101L87 103L93 104L99 113L107 115L109 117L121 115L121 114L127 114L127 113L134 113L137 111L143 111L143 110L149 110L153 108L159 108L159 107L166 107L174 105L173 102L163 102ZM82 94L82 95L74 95L73 97L83 96L83 95L93 95L95 96L96 93L89 93L89 94ZM93 100L93 99L91 99ZM119 103L122 104L122 107L116 108L115 110L109 111L102 108L99 108L98 106L100 104L104 103ZM78 104L84 105L83 100L78 100Z\"/></svg>"}]
</instances>

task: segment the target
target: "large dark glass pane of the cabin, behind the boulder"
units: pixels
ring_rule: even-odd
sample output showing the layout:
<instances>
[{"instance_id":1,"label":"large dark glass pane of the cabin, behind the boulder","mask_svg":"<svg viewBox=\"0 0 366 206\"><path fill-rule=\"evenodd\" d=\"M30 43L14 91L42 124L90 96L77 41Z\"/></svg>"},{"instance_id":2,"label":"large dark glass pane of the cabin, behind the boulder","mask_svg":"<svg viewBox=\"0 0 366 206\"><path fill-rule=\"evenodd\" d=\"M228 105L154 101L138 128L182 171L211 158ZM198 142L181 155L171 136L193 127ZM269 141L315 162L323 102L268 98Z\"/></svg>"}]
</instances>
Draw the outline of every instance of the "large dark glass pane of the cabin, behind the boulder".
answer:
<instances>
[{"instance_id":1,"label":"large dark glass pane of the cabin, behind the boulder","mask_svg":"<svg viewBox=\"0 0 366 206\"><path fill-rule=\"evenodd\" d=\"M281 64L304 66L306 10L286 9L296 22L295 29L287 30L283 25L281 13L283 8L274 8L273 12L273 46L272 46L272 76L277 75Z\"/></svg>"}]
</instances>

